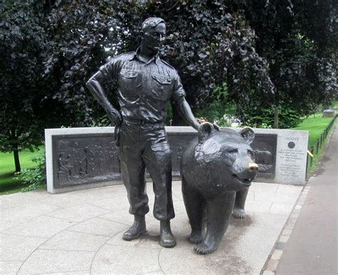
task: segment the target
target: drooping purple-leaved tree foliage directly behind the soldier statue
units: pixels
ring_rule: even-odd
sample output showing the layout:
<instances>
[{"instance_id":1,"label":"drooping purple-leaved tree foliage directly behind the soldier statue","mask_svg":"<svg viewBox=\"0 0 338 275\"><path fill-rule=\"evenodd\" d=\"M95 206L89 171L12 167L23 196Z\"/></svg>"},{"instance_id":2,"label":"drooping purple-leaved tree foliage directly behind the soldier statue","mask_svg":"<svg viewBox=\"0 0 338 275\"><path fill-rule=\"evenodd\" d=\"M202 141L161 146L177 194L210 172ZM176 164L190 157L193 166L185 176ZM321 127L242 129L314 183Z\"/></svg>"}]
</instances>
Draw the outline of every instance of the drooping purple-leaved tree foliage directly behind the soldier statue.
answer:
<instances>
[{"instance_id":1,"label":"drooping purple-leaved tree foliage directly behind the soldier statue","mask_svg":"<svg viewBox=\"0 0 338 275\"><path fill-rule=\"evenodd\" d=\"M168 39L161 54L178 69L193 106L208 103L210 91L223 81L234 99L249 100L251 89L272 94L267 63L255 51L255 32L243 16L230 14L221 1L117 5L78 0L61 2L48 16L53 52L46 74L56 78L54 98L81 111L87 123L92 116L103 115L84 84L110 56L135 51L140 24L148 16L165 19ZM115 100L113 94L111 99Z\"/></svg>"}]
</instances>

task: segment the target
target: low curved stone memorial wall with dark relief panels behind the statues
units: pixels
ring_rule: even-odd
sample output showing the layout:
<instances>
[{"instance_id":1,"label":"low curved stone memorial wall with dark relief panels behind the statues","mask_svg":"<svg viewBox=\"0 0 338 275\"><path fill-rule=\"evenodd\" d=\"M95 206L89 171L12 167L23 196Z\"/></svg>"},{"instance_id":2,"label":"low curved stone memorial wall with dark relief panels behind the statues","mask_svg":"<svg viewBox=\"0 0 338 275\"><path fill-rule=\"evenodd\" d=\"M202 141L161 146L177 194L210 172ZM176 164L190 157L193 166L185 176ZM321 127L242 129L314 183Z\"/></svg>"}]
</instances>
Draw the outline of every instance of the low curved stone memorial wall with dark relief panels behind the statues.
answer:
<instances>
[{"instance_id":1,"label":"low curved stone memorial wall with dark relief panels behind the statues","mask_svg":"<svg viewBox=\"0 0 338 275\"><path fill-rule=\"evenodd\" d=\"M166 127L172 151L173 177L180 176L180 158L197 131ZM259 172L255 181L304 184L307 131L254 129L252 149ZM47 189L60 193L121 184L118 147L113 127L46 129Z\"/></svg>"}]
</instances>

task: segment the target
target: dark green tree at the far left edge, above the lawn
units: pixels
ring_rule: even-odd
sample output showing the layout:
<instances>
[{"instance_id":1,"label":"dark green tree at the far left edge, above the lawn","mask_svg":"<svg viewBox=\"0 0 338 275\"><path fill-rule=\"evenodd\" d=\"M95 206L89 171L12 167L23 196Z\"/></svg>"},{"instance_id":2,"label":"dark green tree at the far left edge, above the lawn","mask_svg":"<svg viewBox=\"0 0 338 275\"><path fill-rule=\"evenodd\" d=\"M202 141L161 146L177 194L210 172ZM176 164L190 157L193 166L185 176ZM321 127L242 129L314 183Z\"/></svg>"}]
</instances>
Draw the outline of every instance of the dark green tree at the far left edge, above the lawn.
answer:
<instances>
[{"instance_id":1,"label":"dark green tree at the far left edge, above the lawn","mask_svg":"<svg viewBox=\"0 0 338 275\"><path fill-rule=\"evenodd\" d=\"M50 41L43 29L43 5L6 1L0 9L0 151L19 151L41 144L43 129L73 118L63 104L48 99L51 85L43 79Z\"/></svg>"}]
</instances>

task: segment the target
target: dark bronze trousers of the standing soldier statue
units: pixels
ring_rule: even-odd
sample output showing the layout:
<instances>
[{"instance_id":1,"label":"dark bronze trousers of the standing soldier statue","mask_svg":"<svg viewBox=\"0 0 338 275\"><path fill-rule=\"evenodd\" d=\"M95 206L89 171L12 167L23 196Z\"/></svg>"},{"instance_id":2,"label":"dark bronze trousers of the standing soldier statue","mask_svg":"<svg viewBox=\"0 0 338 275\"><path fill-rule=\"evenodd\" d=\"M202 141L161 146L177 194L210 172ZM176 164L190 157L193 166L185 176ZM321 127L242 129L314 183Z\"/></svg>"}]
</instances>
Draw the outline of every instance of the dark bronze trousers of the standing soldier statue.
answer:
<instances>
[{"instance_id":1,"label":"dark bronze trousers of the standing soldier statue","mask_svg":"<svg viewBox=\"0 0 338 275\"><path fill-rule=\"evenodd\" d=\"M153 215L158 220L173 219L171 152L163 124L140 125L123 121L119 159L128 193L129 213L143 216L149 211L145 191L147 168L155 194Z\"/></svg>"}]
</instances>

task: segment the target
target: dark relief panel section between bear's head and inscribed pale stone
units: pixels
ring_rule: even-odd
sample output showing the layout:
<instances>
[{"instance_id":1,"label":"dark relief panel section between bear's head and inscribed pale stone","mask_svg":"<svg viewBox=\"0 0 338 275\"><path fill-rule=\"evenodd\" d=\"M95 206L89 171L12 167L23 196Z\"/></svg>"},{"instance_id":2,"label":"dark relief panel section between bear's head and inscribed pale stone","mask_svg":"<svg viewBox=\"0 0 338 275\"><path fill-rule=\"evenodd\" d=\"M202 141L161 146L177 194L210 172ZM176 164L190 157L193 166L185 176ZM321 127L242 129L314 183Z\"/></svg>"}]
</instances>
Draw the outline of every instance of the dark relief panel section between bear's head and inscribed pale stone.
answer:
<instances>
[{"instance_id":1,"label":"dark relief panel section between bear's head and inscribed pale stone","mask_svg":"<svg viewBox=\"0 0 338 275\"><path fill-rule=\"evenodd\" d=\"M259 170L256 178L275 178L277 134L255 134L251 147Z\"/></svg>"}]
</instances>

